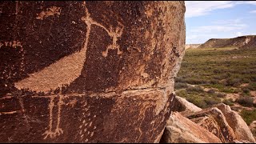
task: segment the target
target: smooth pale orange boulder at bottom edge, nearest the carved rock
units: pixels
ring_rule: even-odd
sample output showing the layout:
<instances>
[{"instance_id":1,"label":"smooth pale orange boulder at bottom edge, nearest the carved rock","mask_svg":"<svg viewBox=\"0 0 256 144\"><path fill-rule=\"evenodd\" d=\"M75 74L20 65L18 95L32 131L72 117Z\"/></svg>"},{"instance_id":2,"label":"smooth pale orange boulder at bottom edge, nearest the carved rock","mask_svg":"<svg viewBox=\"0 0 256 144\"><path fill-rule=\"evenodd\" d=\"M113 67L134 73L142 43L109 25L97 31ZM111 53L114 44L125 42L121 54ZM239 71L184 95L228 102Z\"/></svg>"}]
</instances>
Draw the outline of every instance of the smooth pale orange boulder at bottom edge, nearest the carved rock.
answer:
<instances>
[{"instance_id":1,"label":"smooth pale orange boulder at bottom edge, nearest the carved rock","mask_svg":"<svg viewBox=\"0 0 256 144\"><path fill-rule=\"evenodd\" d=\"M221 143L214 134L191 122L178 112L171 114L162 135L162 143Z\"/></svg>"}]
</instances>

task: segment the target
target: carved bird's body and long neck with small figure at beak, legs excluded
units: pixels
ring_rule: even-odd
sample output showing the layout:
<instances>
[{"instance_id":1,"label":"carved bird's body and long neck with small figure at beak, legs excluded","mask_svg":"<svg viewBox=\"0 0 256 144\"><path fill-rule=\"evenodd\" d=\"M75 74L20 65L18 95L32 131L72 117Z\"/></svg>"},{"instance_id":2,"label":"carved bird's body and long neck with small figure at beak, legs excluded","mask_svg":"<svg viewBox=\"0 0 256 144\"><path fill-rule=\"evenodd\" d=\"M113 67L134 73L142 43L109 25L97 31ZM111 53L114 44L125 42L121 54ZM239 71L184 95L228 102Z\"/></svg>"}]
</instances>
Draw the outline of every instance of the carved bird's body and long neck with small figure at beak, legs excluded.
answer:
<instances>
[{"instance_id":1,"label":"carved bird's body and long neck with small figure at beak, legs excluded","mask_svg":"<svg viewBox=\"0 0 256 144\"><path fill-rule=\"evenodd\" d=\"M105 26L98 22L94 22L90 18L90 13L88 12L86 6L86 16L82 17L82 21L86 23L86 39L84 41L84 46L78 52L70 54L64 58L54 62L50 66L35 72L34 74L29 74L29 78L22 79L19 82L15 82L14 86L19 90L29 89L37 92L48 92L49 90L56 90L58 87L69 85L78 78L82 73L82 68L86 62L86 50L90 38L90 26L96 25L102 27L113 39L113 43L107 46L106 51L102 52L104 57L107 56L108 50L118 50L118 54L122 54L120 46L117 44L117 40L122 35L123 25L118 22L121 27L117 27L116 30L107 30ZM51 9L50 9L51 10Z\"/></svg>"}]
</instances>

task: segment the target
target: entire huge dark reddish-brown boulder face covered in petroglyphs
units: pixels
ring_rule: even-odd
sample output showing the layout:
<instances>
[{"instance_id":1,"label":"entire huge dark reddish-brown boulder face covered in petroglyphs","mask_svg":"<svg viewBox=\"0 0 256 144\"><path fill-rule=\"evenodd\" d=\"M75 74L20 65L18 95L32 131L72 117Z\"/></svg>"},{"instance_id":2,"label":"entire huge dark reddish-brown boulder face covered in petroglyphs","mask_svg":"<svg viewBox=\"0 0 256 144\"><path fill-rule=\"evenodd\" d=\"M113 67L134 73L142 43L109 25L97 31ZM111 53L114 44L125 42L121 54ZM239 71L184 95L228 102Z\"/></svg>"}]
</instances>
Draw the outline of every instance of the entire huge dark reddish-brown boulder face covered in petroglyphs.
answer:
<instances>
[{"instance_id":1,"label":"entire huge dark reddish-brown boulder face covered in petroglyphs","mask_svg":"<svg viewBox=\"0 0 256 144\"><path fill-rule=\"evenodd\" d=\"M1 2L0 142L158 142L184 2Z\"/></svg>"}]
</instances>

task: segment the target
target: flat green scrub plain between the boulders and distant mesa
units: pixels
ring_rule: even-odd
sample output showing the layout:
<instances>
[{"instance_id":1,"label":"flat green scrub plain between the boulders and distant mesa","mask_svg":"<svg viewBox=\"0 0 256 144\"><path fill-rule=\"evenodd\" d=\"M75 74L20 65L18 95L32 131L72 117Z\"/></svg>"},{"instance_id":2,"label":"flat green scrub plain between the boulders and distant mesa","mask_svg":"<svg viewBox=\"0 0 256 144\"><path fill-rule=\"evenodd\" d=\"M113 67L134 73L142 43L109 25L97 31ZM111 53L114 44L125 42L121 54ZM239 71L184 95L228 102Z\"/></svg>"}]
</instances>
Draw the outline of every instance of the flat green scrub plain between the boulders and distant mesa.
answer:
<instances>
[{"instance_id":1,"label":"flat green scrub plain between the boulders and distant mesa","mask_svg":"<svg viewBox=\"0 0 256 144\"><path fill-rule=\"evenodd\" d=\"M175 79L174 89L179 90L176 94L201 108L219 102L253 107L251 91L256 90L255 55L256 49L231 47L186 50ZM227 94L240 97L234 101L226 98Z\"/></svg>"}]
</instances>

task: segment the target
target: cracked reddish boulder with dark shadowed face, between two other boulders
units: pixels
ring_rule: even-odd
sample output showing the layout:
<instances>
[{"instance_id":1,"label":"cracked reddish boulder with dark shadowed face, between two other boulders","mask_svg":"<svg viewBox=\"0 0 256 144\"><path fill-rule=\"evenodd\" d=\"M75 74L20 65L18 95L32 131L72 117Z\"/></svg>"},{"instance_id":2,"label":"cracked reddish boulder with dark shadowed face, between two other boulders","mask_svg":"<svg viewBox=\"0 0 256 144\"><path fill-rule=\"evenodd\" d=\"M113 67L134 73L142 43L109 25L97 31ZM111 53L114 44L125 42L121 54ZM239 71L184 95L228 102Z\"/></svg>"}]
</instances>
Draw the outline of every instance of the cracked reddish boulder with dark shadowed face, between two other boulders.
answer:
<instances>
[{"instance_id":1,"label":"cracked reddish boulder with dark shadowed face, between two other boulders","mask_svg":"<svg viewBox=\"0 0 256 144\"><path fill-rule=\"evenodd\" d=\"M186 114L186 118L204 127L216 135L222 142L232 142L235 140L235 134L232 128L226 122L224 114L218 108L208 108L192 114Z\"/></svg>"}]
</instances>

